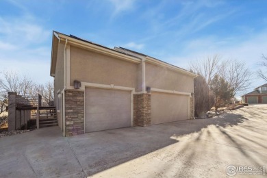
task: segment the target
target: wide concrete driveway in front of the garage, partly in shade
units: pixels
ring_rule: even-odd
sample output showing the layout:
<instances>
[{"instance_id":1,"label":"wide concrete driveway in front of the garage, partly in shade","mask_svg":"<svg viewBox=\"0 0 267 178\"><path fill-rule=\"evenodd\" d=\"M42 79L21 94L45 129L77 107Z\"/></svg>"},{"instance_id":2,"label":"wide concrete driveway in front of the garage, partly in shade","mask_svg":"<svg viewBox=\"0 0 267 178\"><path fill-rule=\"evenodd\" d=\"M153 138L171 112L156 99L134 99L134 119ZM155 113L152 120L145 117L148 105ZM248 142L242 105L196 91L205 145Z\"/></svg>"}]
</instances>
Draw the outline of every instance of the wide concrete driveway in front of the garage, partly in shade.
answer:
<instances>
[{"instance_id":1,"label":"wide concrete driveway in front of the garage, partly in shade","mask_svg":"<svg viewBox=\"0 0 267 178\"><path fill-rule=\"evenodd\" d=\"M267 105L70 138L48 127L0 138L0 177L227 177L267 166L266 136Z\"/></svg>"}]
</instances>

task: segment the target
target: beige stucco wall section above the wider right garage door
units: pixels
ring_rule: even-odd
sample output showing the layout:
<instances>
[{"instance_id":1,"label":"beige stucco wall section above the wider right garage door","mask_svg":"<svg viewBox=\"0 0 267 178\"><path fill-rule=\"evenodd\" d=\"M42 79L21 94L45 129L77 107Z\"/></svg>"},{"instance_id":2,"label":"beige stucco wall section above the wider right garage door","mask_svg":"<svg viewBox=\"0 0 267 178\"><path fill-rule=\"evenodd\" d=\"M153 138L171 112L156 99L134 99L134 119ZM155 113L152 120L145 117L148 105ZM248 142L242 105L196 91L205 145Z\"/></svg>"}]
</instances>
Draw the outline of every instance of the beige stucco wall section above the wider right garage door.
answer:
<instances>
[{"instance_id":1,"label":"beige stucco wall section above the wider right garage door","mask_svg":"<svg viewBox=\"0 0 267 178\"><path fill-rule=\"evenodd\" d=\"M146 62L146 84L151 88L193 92L193 81L193 77Z\"/></svg>"}]
</instances>

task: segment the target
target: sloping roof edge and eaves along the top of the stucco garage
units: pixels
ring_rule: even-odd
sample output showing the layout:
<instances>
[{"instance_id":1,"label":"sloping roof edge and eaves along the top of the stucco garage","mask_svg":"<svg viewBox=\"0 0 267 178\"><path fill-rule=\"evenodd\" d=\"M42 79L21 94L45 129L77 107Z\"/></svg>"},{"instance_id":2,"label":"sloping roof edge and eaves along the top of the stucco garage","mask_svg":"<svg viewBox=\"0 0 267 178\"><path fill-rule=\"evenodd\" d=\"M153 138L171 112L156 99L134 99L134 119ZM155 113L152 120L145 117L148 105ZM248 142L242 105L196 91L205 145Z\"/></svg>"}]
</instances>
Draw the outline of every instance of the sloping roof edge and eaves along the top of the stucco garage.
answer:
<instances>
[{"instance_id":1,"label":"sloping roof edge and eaves along the top of the stucco garage","mask_svg":"<svg viewBox=\"0 0 267 178\"><path fill-rule=\"evenodd\" d=\"M196 74L191 73L190 71L187 71L186 69L179 68L178 66L174 66L172 64L168 64L167 62L163 62L162 60L157 60L156 58L152 58L149 55L144 55L142 53L138 53L136 51L131 51L129 49L125 49L122 47L119 47L119 49L123 49L123 51L118 51L116 47L114 49L111 49L109 47L105 47L101 44L97 44L88 40L84 40L82 38L78 38L77 36L73 35L66 35L62 34L58 31L53 31L53 38L52 38L52 50L51 50L51 70L50 70L50 75L55 76L55 65L56 65L56 60L57 60L57 48L58 48L58 43L55 39L64 40L66 43L67 42L73 42L73 44L82 44L82 45L88 45L88 47L94 51L100 52L100 53L109 53L110 55L113 55L116 58L120 58L123 60L131 60L132 62L137 62L140 63L142 62L141 58L138 58L136 55L132 55L131 53L136 53L138 55L143 56L146 60L149 60L151 62L154 62L156 64L162 65L162 66L167 66L168 68L173 68L180 73L184 73L186 75L190 75L191 77L197 77ZM127 51L131 53L127 53Z\"/></svg>"}]
</instances>

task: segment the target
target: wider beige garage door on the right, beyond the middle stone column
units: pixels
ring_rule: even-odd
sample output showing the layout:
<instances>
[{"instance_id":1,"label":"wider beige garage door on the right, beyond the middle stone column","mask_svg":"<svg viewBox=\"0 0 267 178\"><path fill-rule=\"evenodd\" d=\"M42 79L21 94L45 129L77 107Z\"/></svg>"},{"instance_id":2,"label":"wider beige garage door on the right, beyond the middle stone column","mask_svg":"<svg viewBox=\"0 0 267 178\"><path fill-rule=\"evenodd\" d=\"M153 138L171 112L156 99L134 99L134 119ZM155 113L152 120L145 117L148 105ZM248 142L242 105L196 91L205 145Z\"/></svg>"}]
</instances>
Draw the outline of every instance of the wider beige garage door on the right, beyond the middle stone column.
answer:
<instances>
[{"instance_id":1,"label":"wider beige garage door on the right, beyond the middle stone column","mask_svg":"<svg viewBox=\"0 0 267 178\"><path fill-rule=\"evenodd\" d=\"M188 119L188 100L186 95L152 92L151 125Z\"/></svg>"}]
</instances>

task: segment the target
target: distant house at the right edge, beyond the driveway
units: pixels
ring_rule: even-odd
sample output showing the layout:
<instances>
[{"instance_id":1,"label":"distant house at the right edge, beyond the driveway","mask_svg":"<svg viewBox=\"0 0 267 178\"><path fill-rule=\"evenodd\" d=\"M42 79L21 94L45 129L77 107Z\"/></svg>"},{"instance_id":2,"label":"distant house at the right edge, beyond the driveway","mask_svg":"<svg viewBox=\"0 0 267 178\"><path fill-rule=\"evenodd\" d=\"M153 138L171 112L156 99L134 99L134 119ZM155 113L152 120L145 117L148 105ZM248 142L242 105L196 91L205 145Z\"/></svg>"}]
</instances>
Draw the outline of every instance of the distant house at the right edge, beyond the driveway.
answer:
<instances>
[{"instance_id":1,"label":"distant house at the right edge, beyond the driveway","mask_svg":"<svg viewBox=\"0 0 267 178\"><path fill-rule=\"evenodd\" d=\"M267 103L267 84L258 86L252 92L244 94L242 103Z\"/></svg>"}]
</instances>

